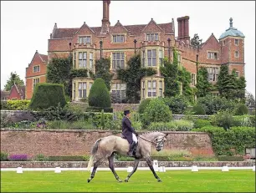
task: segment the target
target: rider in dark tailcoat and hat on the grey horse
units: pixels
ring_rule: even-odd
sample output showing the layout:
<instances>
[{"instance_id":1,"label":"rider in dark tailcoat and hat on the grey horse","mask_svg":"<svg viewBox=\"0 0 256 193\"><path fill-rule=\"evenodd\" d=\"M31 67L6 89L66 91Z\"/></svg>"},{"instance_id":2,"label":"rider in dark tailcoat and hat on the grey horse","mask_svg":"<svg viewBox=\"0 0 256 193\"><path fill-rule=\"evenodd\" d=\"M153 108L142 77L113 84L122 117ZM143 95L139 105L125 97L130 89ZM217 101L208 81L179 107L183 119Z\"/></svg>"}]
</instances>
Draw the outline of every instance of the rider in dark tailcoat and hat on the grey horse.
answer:
<instances>
[{"instance_id":1,"label":"rider in dark tailcoat and hat on the grey horse","mask_svg":"<svg viewBox=\"0 0 256 193\"><path fill-rule=\"evenodd\" d=\"M138 143L138 139L136 136L138 134L136 131L131 127L131 120L129 119L130 117L130 110L125 110L124 111L124 118L122 119L122 135L125 136L125 139L128 140L130 144L130 149L127 155L132 156L133 150Z\"/></svg>"}]
</instances>

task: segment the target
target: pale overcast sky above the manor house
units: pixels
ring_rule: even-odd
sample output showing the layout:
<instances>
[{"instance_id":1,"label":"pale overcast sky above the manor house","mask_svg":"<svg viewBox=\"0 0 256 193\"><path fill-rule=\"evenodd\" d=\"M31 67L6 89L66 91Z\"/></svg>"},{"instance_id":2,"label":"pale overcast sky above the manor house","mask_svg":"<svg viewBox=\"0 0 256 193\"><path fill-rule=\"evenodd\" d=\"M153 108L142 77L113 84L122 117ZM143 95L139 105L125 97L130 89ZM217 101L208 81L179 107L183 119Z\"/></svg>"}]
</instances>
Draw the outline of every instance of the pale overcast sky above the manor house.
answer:
<instances>
[{"instance_id":1,"label":"pale overcast sky above the manor house","mask_svg":"<svg viewBox=\"0 0 256 193\"><path fill-rule=\"evenodd\" d=\"M216 38L233 27L245 35L245 77L247 89L255 96L255 2L172 2L172 1L111 1L110 23L123 25L175 21L189 16L189 34L198 33L202 42L213 33ZM47 54L49 34L54 23L58 28L80 28L85 22L100 27L101 1L68 2L3 2L1 1L1 89L11 72L16 71L25 82L25 69L36 50Z\"/></svg>"}]
</instances>

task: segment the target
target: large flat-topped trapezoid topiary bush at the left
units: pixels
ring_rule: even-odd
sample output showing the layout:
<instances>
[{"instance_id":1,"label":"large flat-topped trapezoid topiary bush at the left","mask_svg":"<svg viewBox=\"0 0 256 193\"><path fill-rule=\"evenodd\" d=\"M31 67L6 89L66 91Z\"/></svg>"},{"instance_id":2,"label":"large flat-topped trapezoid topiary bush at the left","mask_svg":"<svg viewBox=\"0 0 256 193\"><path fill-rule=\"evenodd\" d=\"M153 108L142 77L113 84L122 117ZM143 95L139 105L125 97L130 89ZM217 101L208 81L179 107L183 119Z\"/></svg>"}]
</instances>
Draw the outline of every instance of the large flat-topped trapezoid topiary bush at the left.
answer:
<instances>
[{"instance_id":1,"label":"large flat-topped trapezoid topiary bush at the left","mask_svg":"<svg viewBox=\"0 0 256 193\"><path fill-rule=\"evenodd\" d=\"M63 84L42 83L36 85L29 109L48 109L58 104L61 107L67 104Z\"/></svg>"}]
</instances>

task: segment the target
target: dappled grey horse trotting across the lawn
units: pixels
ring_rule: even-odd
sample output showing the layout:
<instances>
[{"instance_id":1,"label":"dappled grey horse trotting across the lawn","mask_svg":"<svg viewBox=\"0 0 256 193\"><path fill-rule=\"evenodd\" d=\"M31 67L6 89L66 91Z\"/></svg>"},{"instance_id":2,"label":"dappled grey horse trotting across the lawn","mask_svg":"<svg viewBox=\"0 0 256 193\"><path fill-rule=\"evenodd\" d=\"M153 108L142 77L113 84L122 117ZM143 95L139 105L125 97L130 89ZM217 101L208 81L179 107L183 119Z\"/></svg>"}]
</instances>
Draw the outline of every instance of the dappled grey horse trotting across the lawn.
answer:
<instances>
[{"instance_id":1,"label":"dappled grey horse trotting across the lawn","mask_svg":"<svg viewBox=\"0 0 256 193\"><path fill-rule=\"evenodd\" d=\"M150 167L156 180L161 182L161 179L158 177L158 175L156 175L156 171L154 170L151 163L151 144L156 146L157 151L162 150L164 147L164 142L166 141L166 136L166 134L156 131L148 132L138 136L136 154L134 155L134 168L125 178L125 182L128 182L128 180L131 178L131 175L136 172L141 159L146 160L146 163ZM122 180L120 180L119 176L115 172L114 155L115 153L119 155L127 155L128 151L128 141L119 136L110 135L96 140L95 145L91 150L90 161L88 163L87 170L90 171L92 165L94 165L94 167L87 182L89 183L95 177L95 171L97 170L98 166L106 159L109 160L109 167L113 175L115 175L115 179L119 182L122 182Z\"/></svg>"}]
</instances>

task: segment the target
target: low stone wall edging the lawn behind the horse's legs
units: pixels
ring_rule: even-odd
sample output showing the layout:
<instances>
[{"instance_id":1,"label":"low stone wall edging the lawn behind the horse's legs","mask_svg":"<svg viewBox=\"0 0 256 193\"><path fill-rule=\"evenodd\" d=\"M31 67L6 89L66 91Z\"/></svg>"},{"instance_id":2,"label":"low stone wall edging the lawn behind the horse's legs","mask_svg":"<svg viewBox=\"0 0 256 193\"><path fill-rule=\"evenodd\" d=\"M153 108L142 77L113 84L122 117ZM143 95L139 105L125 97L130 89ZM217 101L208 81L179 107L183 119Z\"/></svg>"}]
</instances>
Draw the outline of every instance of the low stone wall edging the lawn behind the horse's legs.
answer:
<instances>
[{"instance_id":1,"label":"low stone wall edging the lawn behind the horse's legs","mask_svg":"<svg viewBox=\"0 0 256 193\"><path fill-rule=\"evenodd\" d=\"M86 168L88 161L1 161L1 168ZM248 167L255 165L252 161L158 161L158 166L165 167ZM134 166L133 161L115 161L115 167ZM104 162L100 167L109 167L108 162ZM141 161L139 167L148 167L146 161Z\"/></svg>"}]
</instances>

